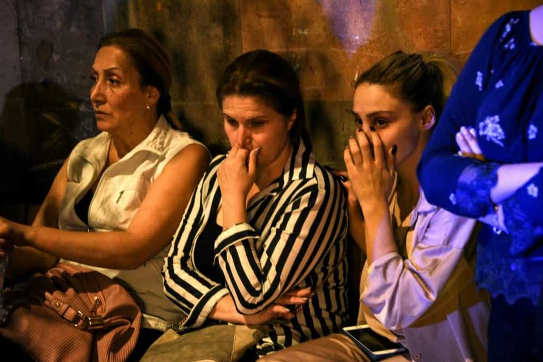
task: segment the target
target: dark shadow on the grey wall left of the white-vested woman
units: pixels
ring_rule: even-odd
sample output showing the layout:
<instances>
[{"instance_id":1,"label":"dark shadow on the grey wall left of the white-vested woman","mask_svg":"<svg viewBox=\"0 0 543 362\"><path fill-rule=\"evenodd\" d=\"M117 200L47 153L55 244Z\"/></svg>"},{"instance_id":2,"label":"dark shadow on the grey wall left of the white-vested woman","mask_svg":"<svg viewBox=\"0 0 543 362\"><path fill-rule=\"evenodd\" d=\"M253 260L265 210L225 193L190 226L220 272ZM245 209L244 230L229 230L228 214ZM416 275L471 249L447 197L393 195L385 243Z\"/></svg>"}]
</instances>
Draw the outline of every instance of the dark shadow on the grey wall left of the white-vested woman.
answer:
<instances>
[{"instance_id":1,"label":"dark shadow on the grey wall left of the white-vested woman","mask_svg":"<svg viewBox=\"0 0 543 362\"><path fill-rule=\"evenodd\" d=\"M0 202L41 204L75 144L97 132L88 99L47 80L13 88L0 113Z\"/></svg>"}]
</instances>

